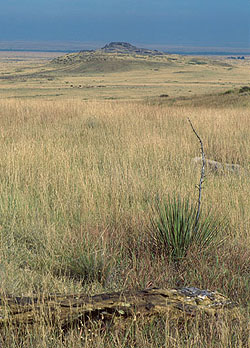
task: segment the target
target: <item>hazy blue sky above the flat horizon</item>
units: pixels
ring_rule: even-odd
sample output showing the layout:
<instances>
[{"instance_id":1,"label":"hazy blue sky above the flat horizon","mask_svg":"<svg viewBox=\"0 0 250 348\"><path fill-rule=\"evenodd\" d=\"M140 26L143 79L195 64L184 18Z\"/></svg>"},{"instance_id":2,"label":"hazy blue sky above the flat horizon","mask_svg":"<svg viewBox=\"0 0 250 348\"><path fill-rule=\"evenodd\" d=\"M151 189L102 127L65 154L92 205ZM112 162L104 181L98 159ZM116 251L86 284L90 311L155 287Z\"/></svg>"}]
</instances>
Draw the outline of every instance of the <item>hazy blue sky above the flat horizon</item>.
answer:
<instances>
[{"instance_id":1,"label":"hazy blue sky above the flat horizon","mask_svg":"<svg viewBox=\"0 0 250 348\"><path fill-rule=\"evenodd\" d=\"M249 0L0 0L1 41L250 48Z\"/></svg>"}]
</instances>

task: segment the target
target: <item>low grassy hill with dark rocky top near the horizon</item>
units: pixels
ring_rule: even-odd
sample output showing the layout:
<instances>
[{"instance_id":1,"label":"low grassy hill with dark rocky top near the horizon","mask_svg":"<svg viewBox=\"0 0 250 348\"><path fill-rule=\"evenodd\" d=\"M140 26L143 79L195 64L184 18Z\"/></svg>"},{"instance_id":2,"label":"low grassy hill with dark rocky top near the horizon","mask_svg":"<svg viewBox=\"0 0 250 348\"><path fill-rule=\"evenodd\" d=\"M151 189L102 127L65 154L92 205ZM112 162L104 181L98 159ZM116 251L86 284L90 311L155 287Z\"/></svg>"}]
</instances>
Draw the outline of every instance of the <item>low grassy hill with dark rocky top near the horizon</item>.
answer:
<instances>
[{"instance_id":1,"label":"low grassy hill with dark rocky top near the horizon","mask_svg":"<svg viewBox=\"0 0 250 348\"><path fill-rule=\"evenodd\" d=\"M82 50L53 59L50 65L59 74L98 74L131 70L159 70L166 67L215 65L230 68L228 62L205 57L183 57L157 50L138 48L128 42L111 42L97 50Z\"/></svg>"}]
</instances>

